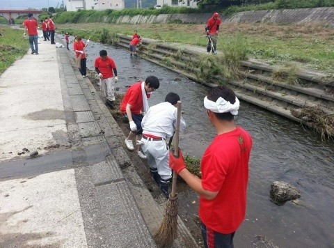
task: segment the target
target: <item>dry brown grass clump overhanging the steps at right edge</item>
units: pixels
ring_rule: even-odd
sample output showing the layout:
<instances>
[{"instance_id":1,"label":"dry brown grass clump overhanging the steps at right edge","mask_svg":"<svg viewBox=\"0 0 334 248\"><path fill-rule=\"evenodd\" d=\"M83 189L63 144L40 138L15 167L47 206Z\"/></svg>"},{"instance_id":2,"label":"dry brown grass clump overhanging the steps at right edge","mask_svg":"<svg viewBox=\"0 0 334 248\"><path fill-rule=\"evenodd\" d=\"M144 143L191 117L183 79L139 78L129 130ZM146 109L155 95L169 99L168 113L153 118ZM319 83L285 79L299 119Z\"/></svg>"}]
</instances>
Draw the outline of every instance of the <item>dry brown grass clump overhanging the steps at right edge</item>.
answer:
<instances>
[{"instance_id":1,"label":"dry brown grass clump overhanging the steps at right edge","mask_svg":"<svg viewBox=\"0 0 334 248\"><path fill-rule=\"evenodd\" d=\"M321 139L334 137L334 114L325 114L318 107L306 107L301 110L301 116L307 118L315 127L316 132L321 134Z\"/></svg>"}]
</instances>

